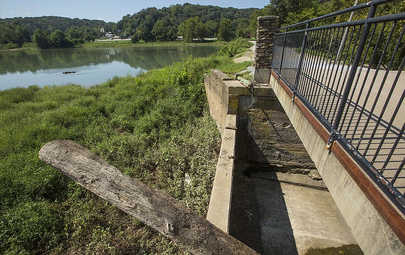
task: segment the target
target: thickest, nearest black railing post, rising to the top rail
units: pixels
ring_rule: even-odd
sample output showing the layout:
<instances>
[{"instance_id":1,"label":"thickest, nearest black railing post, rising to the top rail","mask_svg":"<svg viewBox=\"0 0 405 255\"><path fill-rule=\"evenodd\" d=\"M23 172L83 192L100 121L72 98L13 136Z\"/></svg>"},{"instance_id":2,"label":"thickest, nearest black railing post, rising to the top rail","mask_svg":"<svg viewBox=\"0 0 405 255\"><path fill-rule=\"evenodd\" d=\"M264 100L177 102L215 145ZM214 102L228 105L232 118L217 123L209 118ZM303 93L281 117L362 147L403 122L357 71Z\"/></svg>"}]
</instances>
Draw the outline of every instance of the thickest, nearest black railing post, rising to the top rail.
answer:
<instances>
[{"instance_id":1,"label":"thickest, nearest black railing post, rising to the top rail","mask_svg":"<svg viewBox=\"0 0 405 255\"><path fill-rule=\"evenodd\" d=\"M349 77L347 79L346 87L345 87L345 90L344 90L343 95L342 95L342 99L341 99L341 102L340 102L338 113L336 114L336 118L335 118L335 121L334 121L333 126L332 126L331 136L329 137L329 141L328 141L328 144L327 144L327 147L326 147L327 150L331 149L333 141L336 140L336 133L338 133L338 131L337 131L338 126L340 124L340 120L342 119L343 111L344 111L344 109L346 107L346 103L347 103L347 99L348 99L349 94L350 94L351 86L353 84L354 77L356 76L357 67L358 67L358 64L360 63L360 60L361 60L361 55L362 55L363 50L364 50L364 48L366 46L367 37L369 36L370 28L371 28L370 24L367 21L368 21L368 19L373 18L375 14L376 14L376 6L371 5L370 10L369 10L369 14L367 15L367 19L365 21L363 32L361 34L360 41L358 43L357 52L356 52L356 55L354 56L353 64L351 65Z\"/></svg>"}]
</instances>

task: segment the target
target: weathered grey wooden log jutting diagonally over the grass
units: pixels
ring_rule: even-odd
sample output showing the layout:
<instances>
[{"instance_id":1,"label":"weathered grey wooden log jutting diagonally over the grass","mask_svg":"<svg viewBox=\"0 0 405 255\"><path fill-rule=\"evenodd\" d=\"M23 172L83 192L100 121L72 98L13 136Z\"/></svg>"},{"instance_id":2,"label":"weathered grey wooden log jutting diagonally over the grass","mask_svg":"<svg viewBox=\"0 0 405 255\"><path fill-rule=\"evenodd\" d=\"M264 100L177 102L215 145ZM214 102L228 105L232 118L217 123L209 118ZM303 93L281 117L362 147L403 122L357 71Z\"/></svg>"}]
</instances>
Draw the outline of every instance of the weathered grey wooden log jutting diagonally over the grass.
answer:
<instances>
[{"instance_id":1,"label":"weathered grey wooden log jutting diagonally over the grass","mask_svg":"<svg viewBox=\"0 0 405 255\"><path fill-rule=\"evenodd\" d=\"M258 254L180 201L122 174L72 141L44 145L39 158L192 254Z\"/></svg>"}]
</instances>

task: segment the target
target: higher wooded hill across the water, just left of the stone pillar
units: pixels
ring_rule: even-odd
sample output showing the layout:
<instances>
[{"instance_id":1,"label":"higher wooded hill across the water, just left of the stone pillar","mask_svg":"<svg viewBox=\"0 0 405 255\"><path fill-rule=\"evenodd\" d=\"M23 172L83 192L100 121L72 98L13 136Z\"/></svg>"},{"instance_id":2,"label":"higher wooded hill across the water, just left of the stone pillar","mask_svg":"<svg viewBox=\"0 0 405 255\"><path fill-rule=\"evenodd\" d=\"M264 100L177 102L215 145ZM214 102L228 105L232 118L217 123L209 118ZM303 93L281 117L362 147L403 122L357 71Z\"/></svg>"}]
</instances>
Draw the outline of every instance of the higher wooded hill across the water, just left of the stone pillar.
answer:
<instances>
[{"instance_id":1,"label":"higher wooded hill across the water, just left of the stone pillar","mask_svg":"<svg viewBox=\"0 0 405 255\"><path fill-rule=\"evenodd\" d=\"M177 36L183 36L186 41L217 36L219 39L230 40L237 36L250 36L249 17L256 10L259 9L221 8L188 3L161 9L151 7L133 15L127 14L114 28L131 36L134 43L141 40L172 41Z\"/></svg>"}]
</instances>

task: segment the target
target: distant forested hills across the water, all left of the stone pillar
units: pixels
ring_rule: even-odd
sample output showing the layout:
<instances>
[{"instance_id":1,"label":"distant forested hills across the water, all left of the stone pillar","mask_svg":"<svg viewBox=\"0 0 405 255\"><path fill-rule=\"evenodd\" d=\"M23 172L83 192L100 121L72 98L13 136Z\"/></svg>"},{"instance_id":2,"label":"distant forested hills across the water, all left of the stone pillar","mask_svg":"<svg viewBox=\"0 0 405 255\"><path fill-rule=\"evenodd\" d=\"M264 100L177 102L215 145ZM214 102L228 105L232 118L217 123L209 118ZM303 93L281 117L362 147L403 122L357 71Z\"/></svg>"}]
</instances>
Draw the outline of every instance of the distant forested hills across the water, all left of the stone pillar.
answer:
<instances>
[{"instance_id":1,"label":"distant forested hills across the water, all left of the stone pillar","mask_svg":"<svg viewBox=\"0 0 405 255\"><path fill-rule=\"evenodd\" d=\"M142 9L125 15L117 23L55 16L0 19L0 48L18 48L31 42L39 48L66 48L102 37L107 31L122 37L132 36L134 43L140 40L172 41L178 35L192 40L217 36L221 20L232 34L226 34L222 29L219 36L230 40L250 34L249 17L256 10L186 3ZM102 27L104 32L100 31Z\"/></svg>"}]
</instances>

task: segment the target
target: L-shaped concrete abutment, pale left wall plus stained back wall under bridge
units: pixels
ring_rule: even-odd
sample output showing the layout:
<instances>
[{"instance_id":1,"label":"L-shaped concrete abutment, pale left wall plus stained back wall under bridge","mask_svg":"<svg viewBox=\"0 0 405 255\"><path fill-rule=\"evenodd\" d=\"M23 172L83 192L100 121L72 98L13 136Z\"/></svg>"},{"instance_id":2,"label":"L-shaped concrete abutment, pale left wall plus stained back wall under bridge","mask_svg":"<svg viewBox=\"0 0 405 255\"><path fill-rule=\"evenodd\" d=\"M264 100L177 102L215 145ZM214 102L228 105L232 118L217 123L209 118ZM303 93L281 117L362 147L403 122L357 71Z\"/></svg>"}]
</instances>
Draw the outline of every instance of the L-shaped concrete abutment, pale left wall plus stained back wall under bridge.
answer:
<instances>
[{"instance_id":1,"label":"L-shaped concrete abutment, pale left wall plus stained back wall under bridge","mask_svg":"<svg viewBox=\"0 0 405 255\"><path fill-rule=\"evenodd\" d=\"M320 180L292 123L270 87L253 88L220 72L205 76L210 113L221 132L222 144L207 219L229 231L229 211L235 159L252 171L279 171ZM253 93L253 96L252 96ZM244 148L237 148L245 144ZM249 149L247 149L249 148Z\"/></svg>"}]
</instances>

